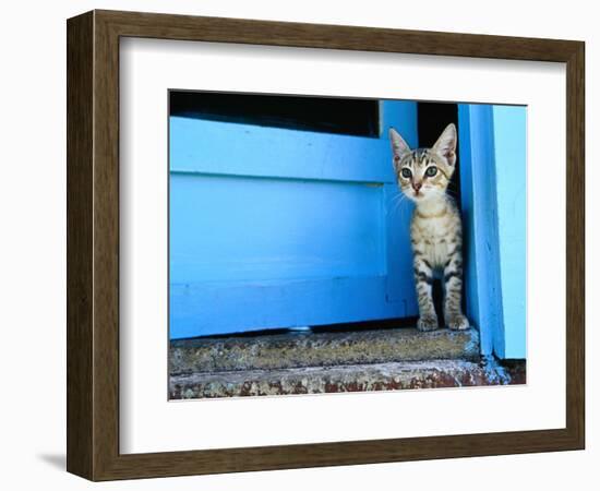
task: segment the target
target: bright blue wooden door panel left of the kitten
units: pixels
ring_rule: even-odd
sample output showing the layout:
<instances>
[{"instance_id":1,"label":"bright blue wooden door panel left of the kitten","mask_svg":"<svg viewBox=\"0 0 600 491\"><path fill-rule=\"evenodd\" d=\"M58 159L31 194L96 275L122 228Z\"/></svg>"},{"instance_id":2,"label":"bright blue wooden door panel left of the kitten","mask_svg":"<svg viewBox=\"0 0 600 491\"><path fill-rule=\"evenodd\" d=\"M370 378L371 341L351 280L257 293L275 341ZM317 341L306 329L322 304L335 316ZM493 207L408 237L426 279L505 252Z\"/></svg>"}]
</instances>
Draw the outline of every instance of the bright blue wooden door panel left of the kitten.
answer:
<instances>
[{"instance_id":1,"label":"bright blue wooden door panel left of the kitten","mask_svg":"<svg viewBox=\"0 0 600 491\"><path fill-rule=\"evenodd\" d=\"M415 315L408 204L380 137L171 117L171 338Z\"/></svg>"}]
</instances>

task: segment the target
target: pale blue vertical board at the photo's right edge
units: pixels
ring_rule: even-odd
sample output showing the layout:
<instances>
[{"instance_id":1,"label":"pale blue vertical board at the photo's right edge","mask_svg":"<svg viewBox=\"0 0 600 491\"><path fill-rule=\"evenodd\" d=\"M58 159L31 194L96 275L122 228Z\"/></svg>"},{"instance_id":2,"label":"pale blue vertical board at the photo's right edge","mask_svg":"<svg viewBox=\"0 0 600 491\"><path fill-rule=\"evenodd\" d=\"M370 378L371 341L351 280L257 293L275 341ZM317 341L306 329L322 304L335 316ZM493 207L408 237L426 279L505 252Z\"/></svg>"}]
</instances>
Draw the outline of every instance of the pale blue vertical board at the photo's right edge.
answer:
<instances>
[{"instance_id":1,"label":"pale blue vertical board at the photo's right edge","mask_svg":"<svg viewBox=\"0 0 600 491\"><path fill-rule=\"evenodd\" d=\"M504 321L500 354L526 358L526 108L494 106L492 115Z\"/></svg>"}]
</instances>

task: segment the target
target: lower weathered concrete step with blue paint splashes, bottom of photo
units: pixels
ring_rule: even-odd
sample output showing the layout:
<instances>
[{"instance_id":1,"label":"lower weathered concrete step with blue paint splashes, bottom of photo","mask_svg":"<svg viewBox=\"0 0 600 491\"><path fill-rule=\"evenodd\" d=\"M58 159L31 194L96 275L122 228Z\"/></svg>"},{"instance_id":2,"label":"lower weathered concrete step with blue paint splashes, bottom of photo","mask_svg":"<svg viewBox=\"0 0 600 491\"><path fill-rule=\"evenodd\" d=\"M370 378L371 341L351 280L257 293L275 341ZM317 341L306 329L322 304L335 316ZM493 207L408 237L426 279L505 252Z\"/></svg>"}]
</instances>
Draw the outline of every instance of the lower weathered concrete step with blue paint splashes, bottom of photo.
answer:
<instances>
[{"instance_id":1,"label":"lower weathered concrete step with blue paint splashes, bottom of photo","mask_svg":"<svg viewBox=\"0 0 600 491\"><path fill-rule=\"evenodd\" d=\"M169 394L187 399L523 383L525 364L429 360L183 374L170 378Z\"/></svg>"}]
</instances>

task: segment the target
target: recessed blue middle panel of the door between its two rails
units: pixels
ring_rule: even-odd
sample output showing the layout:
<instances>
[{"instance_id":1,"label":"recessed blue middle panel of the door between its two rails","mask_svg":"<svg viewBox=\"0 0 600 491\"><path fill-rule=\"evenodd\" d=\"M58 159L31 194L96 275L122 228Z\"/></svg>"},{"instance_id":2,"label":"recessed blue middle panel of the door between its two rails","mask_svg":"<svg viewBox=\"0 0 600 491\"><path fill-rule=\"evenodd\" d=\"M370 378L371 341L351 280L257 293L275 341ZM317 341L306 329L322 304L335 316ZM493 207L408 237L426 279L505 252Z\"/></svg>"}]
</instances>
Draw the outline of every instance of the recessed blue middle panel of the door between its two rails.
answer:
<instances>
[{"instance_id":1,"label":"recessed blue middle panel of the door between its two rails","mask_svg":"<svg viewBox=\"0 0 600 491\"><path fill-rule=\"evenodd\" d=\"M383 276L381 184L171 176L170 282Z\"/></svg>"}]
</instances>

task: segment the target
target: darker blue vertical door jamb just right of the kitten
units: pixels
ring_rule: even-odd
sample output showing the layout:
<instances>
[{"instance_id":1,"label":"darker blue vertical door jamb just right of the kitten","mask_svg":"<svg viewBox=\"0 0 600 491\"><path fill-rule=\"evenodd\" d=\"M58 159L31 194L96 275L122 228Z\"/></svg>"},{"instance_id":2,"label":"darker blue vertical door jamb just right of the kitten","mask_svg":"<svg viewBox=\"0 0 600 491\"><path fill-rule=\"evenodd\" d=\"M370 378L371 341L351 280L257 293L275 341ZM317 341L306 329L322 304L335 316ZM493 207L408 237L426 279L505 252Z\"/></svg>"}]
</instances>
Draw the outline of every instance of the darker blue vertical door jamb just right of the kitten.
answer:
<instances>
[{"instance_id":1,"label":"darker blue vertical door jamb just right of the kitten","mask_svg":"<svg viewBox=\"0 0 600 491\"><path fill-rule=\"evenodd\" d=\"M492 106L458 106L467 316L480 331L481 354L504 345Z\"/></svg>"}]
</instances>

